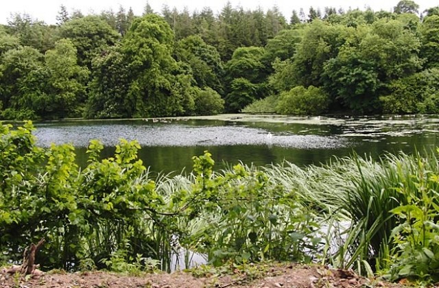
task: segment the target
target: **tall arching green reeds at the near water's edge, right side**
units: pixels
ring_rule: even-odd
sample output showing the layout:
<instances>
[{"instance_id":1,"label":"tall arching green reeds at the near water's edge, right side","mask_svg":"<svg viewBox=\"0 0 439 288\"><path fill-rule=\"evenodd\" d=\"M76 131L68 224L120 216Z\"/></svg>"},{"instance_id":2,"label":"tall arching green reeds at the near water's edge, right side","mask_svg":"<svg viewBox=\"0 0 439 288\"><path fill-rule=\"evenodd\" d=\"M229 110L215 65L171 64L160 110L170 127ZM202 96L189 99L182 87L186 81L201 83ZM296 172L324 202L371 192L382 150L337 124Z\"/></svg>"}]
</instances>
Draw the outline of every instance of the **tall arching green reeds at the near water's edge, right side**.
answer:
<instances>
[{"instance_id":1,"label":"tall arching green reeds at the near water's edge, right side","mask_svg":"<svg viewBox=\"0 0 439 288\"><path fill-rule=\"evenodd\" d=\"M438 183L428 181L439 175L434 153L388 154L379 160L353 155L305 169L285 162L265 171L326 215L324 226L333 228L327 241L337 243L326 255L333 265L369 273L388 267L395 249L390 236L401 219L392 210L424 190L438 191Z\"/></svg>"}]
</instances>

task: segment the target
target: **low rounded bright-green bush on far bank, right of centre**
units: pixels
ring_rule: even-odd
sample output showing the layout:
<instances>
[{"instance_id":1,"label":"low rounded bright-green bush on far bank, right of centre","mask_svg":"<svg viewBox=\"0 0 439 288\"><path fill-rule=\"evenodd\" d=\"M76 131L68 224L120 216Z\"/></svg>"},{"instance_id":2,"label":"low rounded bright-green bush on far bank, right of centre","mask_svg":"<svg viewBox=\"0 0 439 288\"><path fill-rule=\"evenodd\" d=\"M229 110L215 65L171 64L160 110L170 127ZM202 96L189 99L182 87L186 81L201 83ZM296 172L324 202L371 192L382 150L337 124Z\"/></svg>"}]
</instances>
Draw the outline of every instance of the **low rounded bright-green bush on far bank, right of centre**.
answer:
<instances>
[{"instance_id":1,"label":"low rounded bright-green bush on far bank, right of centre","mask_svg":"<svg viewBox=\"0 0 439 288\"><path fill-rule=\"evenodd\" d=\"M320 88L297 86L281 93L276 112L291 115L320 115L328 110L329 96Z\"/></svg>"}]
</instances>

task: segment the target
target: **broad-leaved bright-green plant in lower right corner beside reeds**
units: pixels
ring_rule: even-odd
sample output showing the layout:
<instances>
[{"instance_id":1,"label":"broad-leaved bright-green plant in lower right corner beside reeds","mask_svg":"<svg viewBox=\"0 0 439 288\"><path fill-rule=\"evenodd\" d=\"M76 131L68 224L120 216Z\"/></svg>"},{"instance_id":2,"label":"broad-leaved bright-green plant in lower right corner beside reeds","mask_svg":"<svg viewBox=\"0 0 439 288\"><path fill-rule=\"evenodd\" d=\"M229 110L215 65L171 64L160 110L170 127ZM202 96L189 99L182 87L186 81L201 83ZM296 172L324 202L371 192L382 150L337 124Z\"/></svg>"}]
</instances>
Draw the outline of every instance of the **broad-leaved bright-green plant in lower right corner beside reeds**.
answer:
<instances>
[{"instance_id":1,"label":"broad-leaved bright-green plant in lower right corner beside reeds","mask_svg":"<svg viewBox=\"0 0 439 288\"><path fill-rule=\"evenodd\" d=\"M391 241L396 244L390 264L390 278L418 278L425 282L438 280L439 268L439 178L425 171L418 162L420 174L416 186L403 182L398 192L407 197L407 204L394 208L400 224L392 230Z\"/></svg>"}]
</instances>

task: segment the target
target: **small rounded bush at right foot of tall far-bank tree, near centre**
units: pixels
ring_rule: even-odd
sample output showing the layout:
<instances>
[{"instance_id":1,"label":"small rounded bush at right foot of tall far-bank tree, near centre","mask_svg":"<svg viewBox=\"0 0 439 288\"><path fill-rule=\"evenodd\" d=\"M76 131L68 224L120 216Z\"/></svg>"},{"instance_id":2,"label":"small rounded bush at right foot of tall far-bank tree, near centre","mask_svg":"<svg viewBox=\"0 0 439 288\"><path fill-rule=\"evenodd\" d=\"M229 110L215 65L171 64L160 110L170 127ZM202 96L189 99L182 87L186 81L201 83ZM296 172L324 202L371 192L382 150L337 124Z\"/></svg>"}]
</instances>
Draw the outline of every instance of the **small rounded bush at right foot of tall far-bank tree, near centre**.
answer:
<instances>
[{"instance_id":1,"label":"small rounded bush at right foot of tall far-bank tree, near centre","mask_svg":"<svg viewBox=\"0 0 439 288\"><path fill-rule=\"evenodd\" d=\"M224 110L224 99L212 88L204 88L195 96L196 115L215 115Z\"/></svg>"}]
</instances>

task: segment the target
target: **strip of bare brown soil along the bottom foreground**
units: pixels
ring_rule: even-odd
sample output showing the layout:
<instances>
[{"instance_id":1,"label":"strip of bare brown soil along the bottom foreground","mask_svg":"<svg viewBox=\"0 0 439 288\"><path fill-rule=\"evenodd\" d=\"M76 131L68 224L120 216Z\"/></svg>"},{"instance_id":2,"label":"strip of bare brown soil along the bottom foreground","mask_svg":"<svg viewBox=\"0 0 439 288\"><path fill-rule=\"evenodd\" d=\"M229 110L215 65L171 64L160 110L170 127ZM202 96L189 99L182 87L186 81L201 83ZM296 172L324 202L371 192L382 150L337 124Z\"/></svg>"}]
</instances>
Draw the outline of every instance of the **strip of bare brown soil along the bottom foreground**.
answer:
<instances>
[{"instance_id":1,"label":"strip of bare brown soil along the bottom foreground","mask_svg":"<svg viewBox=\"0 0 439 288\"><path fill-rule=\"evenodd\" d=\"M260 268L259 268L260 267ZM215 271L215 270L213 270ZM247 272L246 272L247 271ZM199 277L195 277L195 276ZM253 265L250 269L231 269L230 273L217 274L209 270L193 269L192 272L172 274L152 273L137 276L109 272L48 272L40 276L23 278L0 268L0 287L403 287L379 280L361 278L351 271L329 269L317 265L272 264Z\"/></svg>"}]
</instances>

